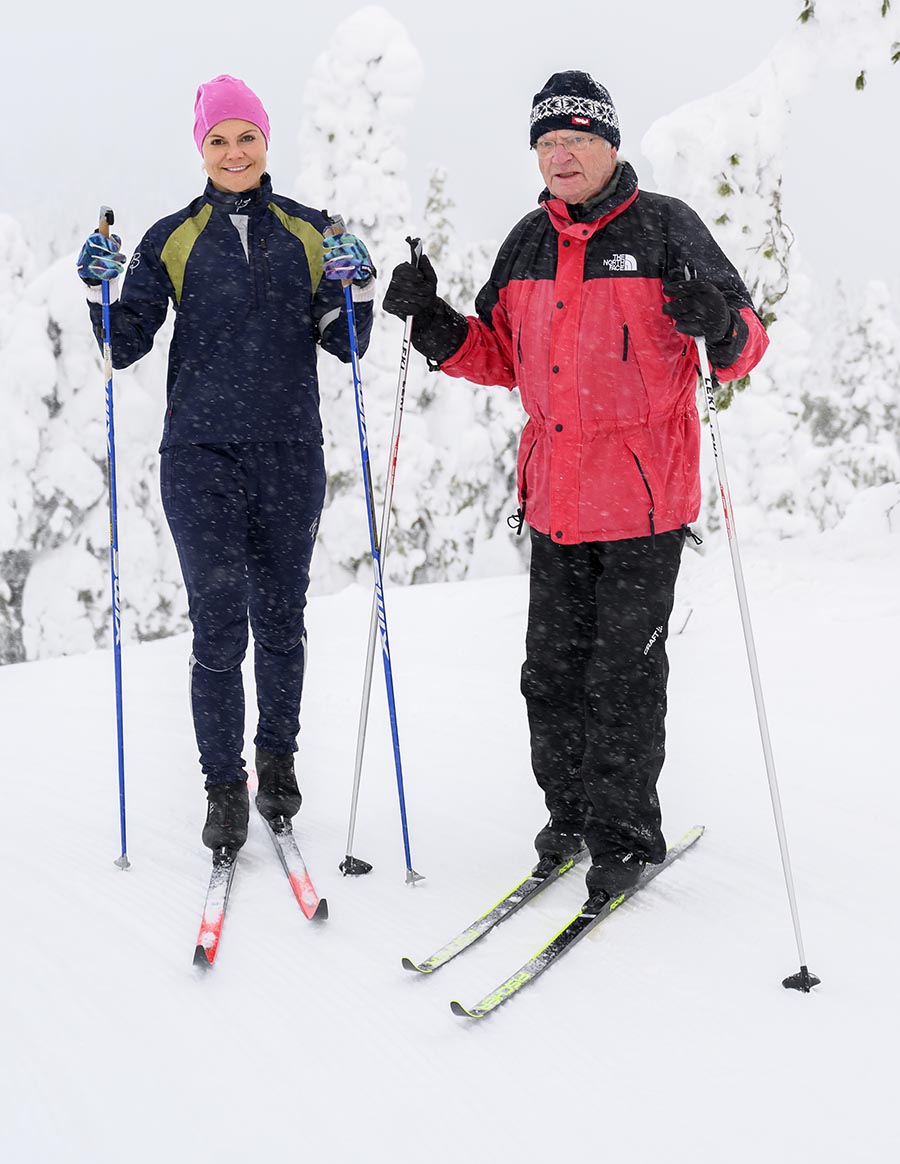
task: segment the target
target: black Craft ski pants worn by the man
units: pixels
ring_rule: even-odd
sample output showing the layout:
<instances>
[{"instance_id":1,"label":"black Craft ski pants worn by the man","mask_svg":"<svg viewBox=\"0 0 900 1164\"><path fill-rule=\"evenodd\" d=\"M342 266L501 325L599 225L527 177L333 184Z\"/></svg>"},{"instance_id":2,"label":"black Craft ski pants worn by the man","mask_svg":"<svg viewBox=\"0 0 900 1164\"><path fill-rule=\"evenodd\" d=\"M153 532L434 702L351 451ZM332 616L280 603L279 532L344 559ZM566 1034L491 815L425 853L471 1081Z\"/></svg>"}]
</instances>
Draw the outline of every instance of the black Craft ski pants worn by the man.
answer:
<instances>
[{"instance_id":1,"label":"black Craft ski pants worn by the man","mask_svg":"<svg viewBox=\"0 0 900 1164\"><path fill-rule=\"evenodd\" d=\"M560 546L531 531L522 669L534 776L593 857L666 853L666 637L686 528Z\"/></svg>"}]
</instances>

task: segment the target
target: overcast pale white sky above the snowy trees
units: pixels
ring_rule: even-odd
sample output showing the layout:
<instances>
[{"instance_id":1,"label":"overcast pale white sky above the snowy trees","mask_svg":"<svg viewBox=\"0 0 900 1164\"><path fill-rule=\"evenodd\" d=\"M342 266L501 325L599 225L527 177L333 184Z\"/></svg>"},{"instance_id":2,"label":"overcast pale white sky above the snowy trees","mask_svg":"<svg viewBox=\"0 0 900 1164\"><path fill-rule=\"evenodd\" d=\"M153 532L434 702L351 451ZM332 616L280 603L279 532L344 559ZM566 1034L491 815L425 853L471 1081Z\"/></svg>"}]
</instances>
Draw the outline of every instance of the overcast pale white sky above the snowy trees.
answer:
<instances>
[{"instance_id":1,"label":"overcast pale white sky above the snowy trees","mask_svg":"<svg viewBox=\"0 0 900 1164\"><path fill-rule=\"evenodd\" d=\"M356 0L15 5L0 17L0 76L13 127L12 148L7 139L2 151L0 211L73 246L107 203L134 247L151 221L201 186L193 97L198 81L219 72L243 77L262 97L272 123L269 169L276 187L289 192L299 164L304 79L334 27L360 7ZM622 154L654 189L639 150L650 125L750 72L802 5L385 0L383 7L405 24L425 65L410 120L413 198L424 193L428 165L444 164L459 225L474 241L502 239L533 205L540 184L527 118L550 73L584 69L607 85L622 122ZM893 221L900 186L899 105L900 66L858 94L852 77L823 76L794 111L786 218L829 278L880 277L898 286L900 232L885 223Z\"/></svg>"}]
</instances>

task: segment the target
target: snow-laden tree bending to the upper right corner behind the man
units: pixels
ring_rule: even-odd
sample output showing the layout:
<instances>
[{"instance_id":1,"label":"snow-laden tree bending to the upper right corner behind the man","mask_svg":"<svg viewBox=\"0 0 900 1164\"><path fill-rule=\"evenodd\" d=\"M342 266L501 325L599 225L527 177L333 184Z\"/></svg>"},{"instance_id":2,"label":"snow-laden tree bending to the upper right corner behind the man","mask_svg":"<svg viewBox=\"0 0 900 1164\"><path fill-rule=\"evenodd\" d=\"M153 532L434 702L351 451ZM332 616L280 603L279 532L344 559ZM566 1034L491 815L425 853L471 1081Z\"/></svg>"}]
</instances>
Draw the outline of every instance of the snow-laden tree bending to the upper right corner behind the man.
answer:
<instances>
[{"instance_id":1,"label":"snow-laden tree bending to the upper right corner behind the man","mask_svg":"<svg viewBox=\"0 0 900 1164\"><path fill-rule=\"evenodd\" d=\"M864 488L871 476L849 469L856 463L850 446L859 431L823 423L821 402L845 399L845 389L836 370L842 361L818 359L821 336L837 335L843 342L856 324L832 320L821 290L812 293L801 248L782 219L782 169L792 102L825 71L839 78L849 69L890 66L885 38L900 38L900 15L880 0L850 6L817 0L814 8L814 19L795 22L752 73L661 119L642 143L659 189L701 214L772 329L772 347L752 376L753 390L735 397L737 414L727 413L724 426L729 469L737 470L732 485L754 503L750 524L778 535L810 523L830 524L845 509L836 475L829 499L822 496L825 432L834 441L828 459L848 468L845 483ZM858 95L848 88L846 99ZM745 382L723 385L721 404L743 386ZM864 460L880 440L867 433ZM876 473L872 480L883 478ZM711 467L706 496L710 503L717 498ZM717 524L714 504L707 519L710 527Z\"/></svg>"}]
</instances>

